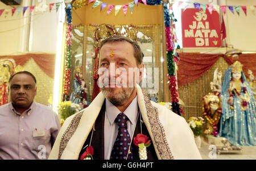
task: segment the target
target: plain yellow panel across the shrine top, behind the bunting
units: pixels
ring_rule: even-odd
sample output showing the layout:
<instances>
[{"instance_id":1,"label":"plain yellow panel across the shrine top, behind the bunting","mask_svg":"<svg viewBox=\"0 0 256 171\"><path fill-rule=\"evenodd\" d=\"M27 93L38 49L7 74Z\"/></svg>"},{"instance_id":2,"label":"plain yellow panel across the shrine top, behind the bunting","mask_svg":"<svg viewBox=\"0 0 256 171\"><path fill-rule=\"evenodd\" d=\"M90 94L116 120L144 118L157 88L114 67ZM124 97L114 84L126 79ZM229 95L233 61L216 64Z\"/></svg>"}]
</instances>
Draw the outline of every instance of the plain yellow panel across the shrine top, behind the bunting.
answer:
<instances>
[{"instance_id":1,"label":"plain yellow panel across the shrine top, behind the bunting","mask_svg":"<svg viewBox=\"0 0 256 171\"><path fill-rule=\"evenodd\" d=\"M110 5L124 5L132 2L131 0L105 0L104 3ZM85 6L82 9L72 10L73 25L79 24L159 24L163 23L163 6L145 6L142 3L138 3L138 6L134 5L133 14L131 14L130 7L128 7L127 14L123 14L121 8L115 16L115 9L113 9L109 15L107 15L108 7L105 7L100 11L100 6L92 9L94 2Z\"/></svg>"}]
</instances>

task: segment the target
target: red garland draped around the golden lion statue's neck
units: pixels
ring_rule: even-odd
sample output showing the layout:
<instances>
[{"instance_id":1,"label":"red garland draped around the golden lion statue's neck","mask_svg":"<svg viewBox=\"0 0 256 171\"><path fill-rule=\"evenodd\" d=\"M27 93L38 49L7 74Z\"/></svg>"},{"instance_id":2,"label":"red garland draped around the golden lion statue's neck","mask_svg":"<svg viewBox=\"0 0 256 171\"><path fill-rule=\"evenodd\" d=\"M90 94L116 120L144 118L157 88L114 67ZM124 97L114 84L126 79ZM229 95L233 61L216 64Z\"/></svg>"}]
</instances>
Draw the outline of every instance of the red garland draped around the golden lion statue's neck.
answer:
<instances>
[{"instance_id":1,"label":"red garland draped around the golden lion statue's neck","mask_svg":"<svg viewBox=\"0 0 256 171\"><path fill-rule=\"evenodd\" d=\"M220 99L220 93L215 92L214 95L217 95ZM204 97L203 97L204 100ZM212 134L214 136L218 135L218 122L220 121L220 116L221 116L221 103L218 106L218 109L215 111L215 113L213 114L213 118L205 111L204 105L203 105L203 116L208 120L208 122L210 123L210 126L212 126L213 128L213 132Z\"/></svg>"}]
</instances>

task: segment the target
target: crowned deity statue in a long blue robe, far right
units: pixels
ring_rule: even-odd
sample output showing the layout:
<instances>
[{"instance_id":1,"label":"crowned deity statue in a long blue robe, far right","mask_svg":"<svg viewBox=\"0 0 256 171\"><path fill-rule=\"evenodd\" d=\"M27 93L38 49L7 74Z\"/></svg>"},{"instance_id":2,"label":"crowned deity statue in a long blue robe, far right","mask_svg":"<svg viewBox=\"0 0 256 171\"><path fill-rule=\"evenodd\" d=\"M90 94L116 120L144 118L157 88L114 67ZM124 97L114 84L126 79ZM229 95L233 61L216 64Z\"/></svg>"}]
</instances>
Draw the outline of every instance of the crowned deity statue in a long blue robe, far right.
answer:
<instances>
[{"instance_id":1,"label":"crowned deity statue in a long blue robe, far right","mask_svg":"<svg viewBox=\"0 0 256 171\"><path fill-rule=\"evenodd\" d=\"M222 115L218 136L226 137L235 146L256 145L255 98L239 61L224 75Z\"/></svg>"}]
</instances>

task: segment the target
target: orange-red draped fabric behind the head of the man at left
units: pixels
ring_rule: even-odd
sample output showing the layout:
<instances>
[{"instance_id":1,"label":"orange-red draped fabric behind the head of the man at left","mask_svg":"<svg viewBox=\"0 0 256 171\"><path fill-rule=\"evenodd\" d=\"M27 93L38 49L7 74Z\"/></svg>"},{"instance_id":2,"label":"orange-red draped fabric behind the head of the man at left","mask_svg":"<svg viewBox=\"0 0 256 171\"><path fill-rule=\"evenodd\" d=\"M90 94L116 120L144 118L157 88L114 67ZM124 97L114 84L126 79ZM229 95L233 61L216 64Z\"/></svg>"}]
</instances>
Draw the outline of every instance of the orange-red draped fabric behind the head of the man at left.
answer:
<instances>
[{"instance_id":1,"label":"orange-red draped fabric behind the head of the man at left","mask_svg":"<svg viewBox=\"0 0 256 171\"><path fill-rule=\"evenodd\" d=\"M24 55L0 56L0 59L14 59L16 65L23 66L32 57L47 76L54 78L55 56L56 54L53 53L27 53Z\"/></svg>"}]
</instances>

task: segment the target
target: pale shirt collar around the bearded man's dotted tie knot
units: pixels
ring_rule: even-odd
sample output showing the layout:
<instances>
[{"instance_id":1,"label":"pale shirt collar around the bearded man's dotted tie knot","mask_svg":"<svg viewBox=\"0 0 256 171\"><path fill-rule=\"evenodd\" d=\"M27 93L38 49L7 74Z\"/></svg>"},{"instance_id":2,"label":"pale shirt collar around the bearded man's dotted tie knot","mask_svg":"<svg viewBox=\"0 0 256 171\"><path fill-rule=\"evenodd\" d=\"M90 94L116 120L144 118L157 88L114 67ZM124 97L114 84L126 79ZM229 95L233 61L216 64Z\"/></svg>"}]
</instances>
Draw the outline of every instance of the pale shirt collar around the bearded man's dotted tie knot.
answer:
<instances>
[{"instance_id":1,"label":"pale shirt collar around the bearded man's dotted tie knot","mask_svg":"<svg viewBox=\"0 0 256 171\"><path fill-rule=\"evenodd\" d=\"M110 124L113 124L115 121L115 118L117 118L117 115L121 113L121 111L113 105L108 99L106 99L106 116L110 122ZM138 101L137 96L133 99L133 101L130 103L130 105L126 108L123 113L129 118L131 124L134 124L137 119L138 114Z\"/></svg>"}]
</instances>

